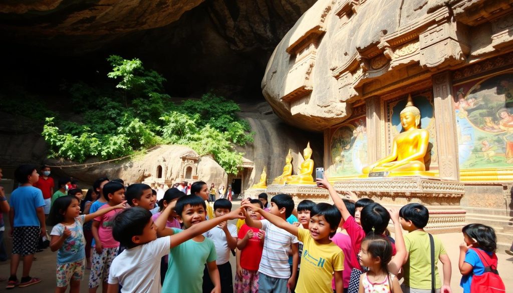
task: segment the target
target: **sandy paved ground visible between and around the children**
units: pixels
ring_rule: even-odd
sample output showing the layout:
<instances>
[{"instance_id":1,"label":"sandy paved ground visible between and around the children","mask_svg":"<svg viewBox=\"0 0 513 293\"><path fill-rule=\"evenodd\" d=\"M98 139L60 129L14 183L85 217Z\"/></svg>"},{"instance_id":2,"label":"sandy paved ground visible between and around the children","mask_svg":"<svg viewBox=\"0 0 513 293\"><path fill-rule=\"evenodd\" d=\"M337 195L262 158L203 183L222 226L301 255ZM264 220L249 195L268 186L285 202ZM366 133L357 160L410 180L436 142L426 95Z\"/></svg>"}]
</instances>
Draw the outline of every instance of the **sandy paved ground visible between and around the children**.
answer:
<instances>
[{"instance_id":1,"label":"sandy paved ground visible between and around the children","mask_svg":"<svg viewBox=\"0 0 513 293\"><path fill-rule=\"evenodd\" d=\"M234 203L234 207L238 207L238 203ZM7 216L7 215L5 215ZM7 219L7 218L4 218ZM50 230L50 227L48 228ZM439 235L442 239L442 242L445 245L445 249L450 257L452 262L452 280L451 280L451 288L452 292L459 293L463 292L460 283L460 272L458 270L458 257L459 257L459 244L463 241L463 236L461 233L448 233ZM6 238L8 251L11 251L11 239L9 237ZM56 252L51 252L50 249L46 249L43 252L36 253L37 261L32 265L31 275L33 277L39 277L43 279L43 282L40 284L36 284L27 288L15 288L10 291L12 292L52 292L55 289L55 259ZM513 286L513 257L506 255L503 251L498 254L499 257L499 273L506 284L506 288L511 288ZM233 272L235 272L234 263L235 258L231 257L230 262L232 263ZM439 270L442 270L442 266L439 266ZM21 272L21 263L18 268L18 278L19 272ZM9 275L9 261L0 262L0 276L8 277ZM85 280L82 281L81 291L87 292L87 278L89 277L89 270L86 270ZM0 292L5 290L6 282L0 283ZM98 290L98 292L100 292Z\"/></svg>"}]
</instances>

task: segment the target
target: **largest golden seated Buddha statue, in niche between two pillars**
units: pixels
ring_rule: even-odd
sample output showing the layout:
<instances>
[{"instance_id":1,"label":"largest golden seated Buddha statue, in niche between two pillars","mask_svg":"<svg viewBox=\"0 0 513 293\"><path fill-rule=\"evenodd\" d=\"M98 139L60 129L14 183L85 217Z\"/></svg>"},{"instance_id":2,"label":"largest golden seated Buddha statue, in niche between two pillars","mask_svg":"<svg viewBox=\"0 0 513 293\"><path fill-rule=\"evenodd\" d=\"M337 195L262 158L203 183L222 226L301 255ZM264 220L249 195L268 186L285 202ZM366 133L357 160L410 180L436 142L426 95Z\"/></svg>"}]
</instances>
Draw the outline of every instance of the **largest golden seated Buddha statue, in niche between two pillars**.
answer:
<instances>
[{"instance_id":1,"label":"largest golden seated Buddha statue, in niche between two pillars","mask_svg":"<svg viewBox=\"0 0 513 293\"><path fill-rule=\"evenodd\" d=\"M413 175L415 171L425 171L424 157L429 144L429 132L419 128L420 110L413 106L408 95L406 107L400 113L403 130L393 138L391 153L377 162L363 168L362 172L402 171ZM408 172L411 172L408 174Z\"/></svg>"}]
</instances>

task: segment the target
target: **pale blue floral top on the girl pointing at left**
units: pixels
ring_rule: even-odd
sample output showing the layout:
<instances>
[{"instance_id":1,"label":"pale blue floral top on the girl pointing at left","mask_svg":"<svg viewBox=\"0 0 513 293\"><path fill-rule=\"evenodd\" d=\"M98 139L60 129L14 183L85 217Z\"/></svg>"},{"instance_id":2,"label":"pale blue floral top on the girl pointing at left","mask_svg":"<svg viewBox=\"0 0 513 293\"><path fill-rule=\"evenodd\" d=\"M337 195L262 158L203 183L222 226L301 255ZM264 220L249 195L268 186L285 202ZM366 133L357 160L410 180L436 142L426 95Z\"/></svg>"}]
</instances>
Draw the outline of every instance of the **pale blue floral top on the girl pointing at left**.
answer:
<instances>
[{"instance_id":1,"label":"pale blue floral top on the girl pointing at left","mask_svg":"<svg viewBox=\"0 0 513 293\"><path fill-rule=\"evenodd\" d=\"M84 219L86 216L82 214L75 218L75 222L72 225L66 226L70 230L71 234L66 240L64 240L63 246L59 248L57 252L57 263L73 263L86 258L86 239L84 238ZM64 224L57 224L53 226L50 235L62 236L64 232Z\"/></svg>"}]
</instances>

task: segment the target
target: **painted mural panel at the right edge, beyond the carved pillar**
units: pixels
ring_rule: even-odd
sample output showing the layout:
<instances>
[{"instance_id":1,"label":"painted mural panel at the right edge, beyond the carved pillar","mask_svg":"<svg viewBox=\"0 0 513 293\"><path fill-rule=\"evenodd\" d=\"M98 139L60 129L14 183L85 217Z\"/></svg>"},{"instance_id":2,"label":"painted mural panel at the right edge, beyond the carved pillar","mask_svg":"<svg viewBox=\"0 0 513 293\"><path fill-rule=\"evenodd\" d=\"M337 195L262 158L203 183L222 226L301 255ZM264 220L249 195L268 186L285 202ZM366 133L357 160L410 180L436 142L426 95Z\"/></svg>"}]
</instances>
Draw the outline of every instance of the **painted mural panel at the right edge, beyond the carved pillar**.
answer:
<instances>
[{"instance_id":1,"label":"painted mural panel at the right edge, beyond the carved pillar","mask_svg":"<svg viewBox=\"0 0 513 293\"><path fill-rule=\"evenodd\" d=\"M513 167L513 72L453 90L460 168Z\"/></svg>"}]
</instances>

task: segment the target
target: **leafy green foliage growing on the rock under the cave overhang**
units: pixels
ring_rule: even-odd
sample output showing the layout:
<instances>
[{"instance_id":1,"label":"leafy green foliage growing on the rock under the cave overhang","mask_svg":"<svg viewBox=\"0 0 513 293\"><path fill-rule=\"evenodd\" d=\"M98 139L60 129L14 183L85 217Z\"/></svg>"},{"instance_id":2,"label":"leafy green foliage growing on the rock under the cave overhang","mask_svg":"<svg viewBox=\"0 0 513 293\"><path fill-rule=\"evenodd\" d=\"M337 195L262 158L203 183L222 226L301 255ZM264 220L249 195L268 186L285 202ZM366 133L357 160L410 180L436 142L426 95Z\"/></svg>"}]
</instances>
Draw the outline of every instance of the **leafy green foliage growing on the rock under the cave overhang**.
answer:
<instances>
[{"instance_id":1,"label":"leafy green foliage growing on the rock under the cave overhang","mask_svg":"<svg viewBox=\"0 0 513 293\"><path fill-rule=\"evenodd\" d=\"M211 154L227 172L238 172L243 153L234 145L253 140L249 124L236 116L239 105L213 93L174 104L164 92L164 77L144 69L139 59L112 55L108 61L107 76L119 82L117 90L85 83L67 88L84 125L46 118L43 136L52 157L115 159L158 144L182 144Z\"/></svg>"}]
</instances>

